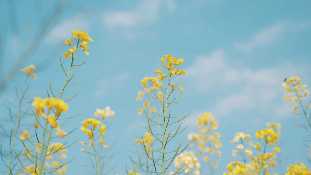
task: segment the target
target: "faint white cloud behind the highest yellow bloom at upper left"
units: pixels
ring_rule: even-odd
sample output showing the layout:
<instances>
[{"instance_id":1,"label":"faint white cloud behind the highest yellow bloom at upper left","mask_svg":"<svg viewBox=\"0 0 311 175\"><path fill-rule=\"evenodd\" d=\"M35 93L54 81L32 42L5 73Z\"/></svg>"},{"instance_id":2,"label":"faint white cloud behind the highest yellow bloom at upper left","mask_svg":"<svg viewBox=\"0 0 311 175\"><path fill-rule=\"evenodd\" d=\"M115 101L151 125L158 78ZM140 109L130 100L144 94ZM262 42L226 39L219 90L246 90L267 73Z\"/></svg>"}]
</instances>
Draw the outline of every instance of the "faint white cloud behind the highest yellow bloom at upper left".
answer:
<instances>
[{"instance_id":1,"label":"faint white cloud behind the highest yellow bloom at upper left","mask_svg":"<svg viewBox=\"0 0 311 175\"><path fill-rule=\"evenodd\" d=\"M83 16L75 16L62 21L58 26L54 27L46 36L45 41L48 43L58 43L70 38L72 30L90 31L91 25Z\"/></svg>"}]
</instances>

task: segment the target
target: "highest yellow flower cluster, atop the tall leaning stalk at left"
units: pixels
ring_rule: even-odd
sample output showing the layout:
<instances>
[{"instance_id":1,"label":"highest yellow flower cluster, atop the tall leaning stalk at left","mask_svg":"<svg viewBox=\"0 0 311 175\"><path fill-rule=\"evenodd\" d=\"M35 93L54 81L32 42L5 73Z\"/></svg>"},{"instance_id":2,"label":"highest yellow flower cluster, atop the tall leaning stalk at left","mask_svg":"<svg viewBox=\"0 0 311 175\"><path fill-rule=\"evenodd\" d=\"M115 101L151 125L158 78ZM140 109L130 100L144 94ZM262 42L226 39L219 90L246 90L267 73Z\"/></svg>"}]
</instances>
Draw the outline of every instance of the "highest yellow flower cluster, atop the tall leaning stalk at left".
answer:
<instances>
[{"instance_id":1,"label":"highest yellow flower cluster, atop the tall leaning stalk at left","mask_svg":"<svg viewBox=\"0 0 311 175\"><path fill-rule=\"evenodd\" d=\"M85 31L77 31L77 30L74 30L72 31L72 37L77 41L77 45L79 45L80 43L80 46L81 49L83 51L85 51L85 54L86 55L89 55L89 52L87 52L86 50L89 50L90 47L87 46L88 45L88 41L92 41L93 40L91 39L91 37L87 34L87 32ZM66 54L63 54L65 56L65 58L70 58L72 55L72 53L76 53L77 52L77 46L72 46L72 43L71 43L71 40L69 38L67 38L67 40L64 42L64 44L67 44L71 47L71 49L67 50L67 53Z\"/></svg>"}]
</instances>

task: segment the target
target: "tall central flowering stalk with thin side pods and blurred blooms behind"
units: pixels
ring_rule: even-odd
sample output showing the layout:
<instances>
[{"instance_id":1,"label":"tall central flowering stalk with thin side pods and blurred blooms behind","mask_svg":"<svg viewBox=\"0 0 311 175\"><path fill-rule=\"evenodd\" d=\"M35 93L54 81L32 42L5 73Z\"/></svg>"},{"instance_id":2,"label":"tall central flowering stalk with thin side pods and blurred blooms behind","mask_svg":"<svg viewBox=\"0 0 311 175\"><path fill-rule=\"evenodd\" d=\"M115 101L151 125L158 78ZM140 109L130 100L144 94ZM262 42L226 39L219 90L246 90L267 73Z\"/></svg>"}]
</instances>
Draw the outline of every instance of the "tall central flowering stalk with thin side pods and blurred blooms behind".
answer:
<instances>
[{"instance_id":1,"label":"tall central flowering stalk with thin side pods and blurred blooms behind","mask_svg":"<svg viewBox=\"0 0 311 175\"><path fill-rule=\"evenodd\" d=\"M165 61L166 60L166 61ZM176 59L174 57L172 57L171 54L169 55L165 55L162 59L161 59L162 65L163 67L168 71L169 75L166 75L165 73L162 73L162 68L158 69L155 73L159 74L158 75L158 79L159 81L163 81L163 80L167 80L167 86L166 87L160 87L160 83L156 83L156 87L153 88L154 92L157 89L161 89L162 93L164 94L163 98L161 98L161 96L158 96L155 92L155 96L152 95L153 98L155 98L156 100L160 101L161 106L162 106L162 111L163 111L163 116L160 114L156 114L154 111L151 110L151 107L149 106L149 104L144 104L145 107L145 115L148 118L148 125L147 125L147 130L150 133L150 135L153 135L153 137L155 138L155 140L158 140L161 143L161 149L160 151L157 149L153 149L150 148L148 145L148 142L146 142L145 139L141 139L141 143L145 148L145 152L146 155L148 156L148 158L153 162L153 167L154 167L154 171L150 171L150 170L146 170L142 167L139 166L139 164L136 162L137 166L144 172L146 173L158 173L158 174L162 174L164 175L165 172L167 171L167 169L170 167L170 165L173 163L173 160L176 156L178 156L181 152L183 152L183 150L179 151L180 147L182 144L179 145L179 147L177 149L175 149L172 152L168 152L166 150L166 147L168 145L168 143L178 134L180 134L182 131L179 131L180 129L180 125L181 125L181 121L186 117L184 116L183 118L179 119L179 117L172 117L171 116L171 111L168 109L168 107L173 104L173 103L178 103L175 102L175 100L180 96L181 92L183 91L183 87L177 87L177 83L172 83L172 79L174 77L176 77L177 75L184 75L185 72L181 69L175 69L177 66L179 66L181 63L183 63L183 59L179 58ZM157 82L156 79L153 80L154 82ZM165 84L165 83L163 83ZM172 95L173 92L175 91L179 91L180 94L174 98L172 101L169 102L169 97ZM181 101L179 101L181 102ZM151 116L149 116L147 110L152 111L152 113L156 114L158 117L163 119L163 123L159 123L157 118L156 120L152 119ZM143 112L142 111L142 112ZM172 120L174 120L172 122ZM178 123L180 122L180 125L177 129L176 132L172 132L171 130L168 132L168 126L172 125L174 123ZM154 133L152 127L151 127L151 123L155 123L156 125L159 125L160 127L162 127L163 132L160 134L156 134ZM136 135L135 135L136 136ZM162 138L161 138L162 137ZM136 136L137 140L140 140L139 137ZM189 144L188 144L189 145ZM187 146L188 146L187 145ZM187 147L186 146L186 147ZM149 150L149 151L148 151ZM154 154L159 153L161 156L161 159L155 159L154 158ZM170 158L166 158L166 155L168 155L169 153L173 154L172 157ZM182 173L184 170L179 169L176 173Z\"/></svg>"}]
</instances>

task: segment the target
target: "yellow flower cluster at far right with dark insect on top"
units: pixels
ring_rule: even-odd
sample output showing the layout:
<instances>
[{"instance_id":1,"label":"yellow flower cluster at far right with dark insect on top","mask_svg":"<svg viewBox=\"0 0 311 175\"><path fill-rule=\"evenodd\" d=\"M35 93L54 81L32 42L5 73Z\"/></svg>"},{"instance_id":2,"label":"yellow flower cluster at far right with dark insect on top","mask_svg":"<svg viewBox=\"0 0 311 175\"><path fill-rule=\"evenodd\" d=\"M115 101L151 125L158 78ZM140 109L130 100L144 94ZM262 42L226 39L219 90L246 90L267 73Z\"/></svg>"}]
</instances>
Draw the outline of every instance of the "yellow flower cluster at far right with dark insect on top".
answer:
<instances>
[{"instance_id":1,"label":"yellow flower cluster at far right with dark insect on top","mask_svg":"<svg viewBox=\"0 0 311 175\"><path fill-rule=\"evenodd\" d=\"M300 105L302 105L301 100L303 100L310 92L309 90L304 90L307 85L306 84L300 84L300 78L299 77L291 77L287 79L282 86L284 87L285 92L293 92L294 95L285 95L284 100L285 101L292 101L292 102L298 102ZM300 87L299 87L300 85ZM303 91L303 92L302 92ZM302 106L303 107L303 106ZM311 104L307 107L311 107ZM294 103L293 111L296 111L298 109L297 103ZM304 109L303 109L304 110ZM298 116L295 114L295 116Z\"/></svg>"}]
</instances>

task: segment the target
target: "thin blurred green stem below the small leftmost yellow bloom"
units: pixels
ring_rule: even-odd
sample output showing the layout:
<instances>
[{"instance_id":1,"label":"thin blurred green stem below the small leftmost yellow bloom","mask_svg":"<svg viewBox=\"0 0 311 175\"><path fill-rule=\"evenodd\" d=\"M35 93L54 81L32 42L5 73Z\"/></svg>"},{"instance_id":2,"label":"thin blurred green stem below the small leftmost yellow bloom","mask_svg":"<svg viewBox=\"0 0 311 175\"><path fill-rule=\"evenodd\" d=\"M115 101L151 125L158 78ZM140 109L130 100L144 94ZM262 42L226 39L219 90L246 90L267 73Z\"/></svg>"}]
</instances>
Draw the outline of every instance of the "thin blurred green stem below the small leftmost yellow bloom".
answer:
<instances>
[{"instance_id":1,"label":"thin blurred green stem below the small leftmost yellow bloom","mask_svg":"<svg viewBox=\"0 0 311 175\"><path fill-rule=\"evenodd\" d=\"M22 108L22 104L23 104L23 99L24 99L25 94L26 94L26 87L27 87L28 77L29 76L27 75L25 86L24 86L24 90L23 90L23 95L21 97L21 102L19 104L18 115L17 115L15 130L14 130L14 134L13 134L12 146L11 146L11 154L10 154L9 162L7 164L7 175L9 175L10 172L11 172L10 165L11 165L11 161L12 161L12 153L13 153L13 149L14 149L14 143L15 143L15 139L16 139L18 124L20 123L20 120L21 120L21 108ZM11 135L11 137L12 137L12 135ZM12 174L12 172L11 172L11 174Z\"/></svg>"}]
</instances>

